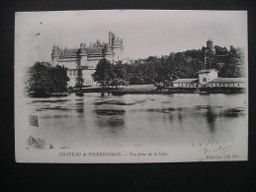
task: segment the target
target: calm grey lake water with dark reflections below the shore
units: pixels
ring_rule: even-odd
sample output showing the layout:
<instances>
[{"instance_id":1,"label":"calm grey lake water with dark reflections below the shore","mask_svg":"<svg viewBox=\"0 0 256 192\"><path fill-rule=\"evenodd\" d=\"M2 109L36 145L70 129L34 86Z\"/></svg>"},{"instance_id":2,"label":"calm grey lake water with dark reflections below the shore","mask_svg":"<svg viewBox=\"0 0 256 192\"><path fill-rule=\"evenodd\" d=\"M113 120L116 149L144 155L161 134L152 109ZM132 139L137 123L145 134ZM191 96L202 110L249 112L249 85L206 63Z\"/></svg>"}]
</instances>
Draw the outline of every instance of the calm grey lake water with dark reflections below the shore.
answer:
<instances>
[{"instance_id":1,"label":"calm grey lake water with dark reflections below the shore","mask_svg":"<svg viewBox=\"0 0 256 192\"><path fill-rule=\"evenodd\" d=\"M232 139L246 126L245 95L125 95L26 98L54 148L189 145Z\"/></svg>"}]
</instances>

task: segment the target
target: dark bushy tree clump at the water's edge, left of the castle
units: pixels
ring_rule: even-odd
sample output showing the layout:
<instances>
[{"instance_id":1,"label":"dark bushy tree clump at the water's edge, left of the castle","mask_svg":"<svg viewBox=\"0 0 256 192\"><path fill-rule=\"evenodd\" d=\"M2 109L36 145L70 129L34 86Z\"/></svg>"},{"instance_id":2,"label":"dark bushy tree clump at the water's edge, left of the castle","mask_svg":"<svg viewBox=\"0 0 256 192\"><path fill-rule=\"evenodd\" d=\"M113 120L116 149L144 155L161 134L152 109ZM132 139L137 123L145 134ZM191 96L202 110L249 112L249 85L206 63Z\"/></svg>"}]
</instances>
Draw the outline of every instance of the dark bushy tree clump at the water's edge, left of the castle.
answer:
<instances>
[{"instance_id":1,"label":"dark bushy tree clump at the water's edge, left of the castle","mask_svg":"<svg viewBox=\"0 0 256 192\"><path fill-rule=\"evenodd\" d=\"M67 69L52 66L47 62L36 62L28 71L27 90L36 95L63 93L67 91Z\"/></svg>"}]
</instances>

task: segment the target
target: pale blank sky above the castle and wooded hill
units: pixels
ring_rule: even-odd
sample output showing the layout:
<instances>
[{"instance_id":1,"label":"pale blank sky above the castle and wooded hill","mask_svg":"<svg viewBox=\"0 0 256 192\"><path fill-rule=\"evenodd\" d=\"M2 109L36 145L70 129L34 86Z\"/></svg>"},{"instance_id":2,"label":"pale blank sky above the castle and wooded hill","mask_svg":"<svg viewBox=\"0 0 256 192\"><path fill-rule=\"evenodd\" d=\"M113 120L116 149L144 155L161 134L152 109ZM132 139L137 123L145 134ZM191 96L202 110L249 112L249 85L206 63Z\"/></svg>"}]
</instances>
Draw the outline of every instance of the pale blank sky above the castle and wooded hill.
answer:
<instances>
[{"instance_id":1,"label":"pale blank sky above the castle and wooded hill","mask_svg":"<svg viewBox=\"0 0 256 192\"><path fill-rule=\"evenodd\" d=\"M244 11L65 11L18 12L15 23L16 61L31 65L50 61L54 44L61 48L108 42L108 32L124 39L124 57L146 58L214 45L247 48Z\"/></svg>"}]
</instances>

